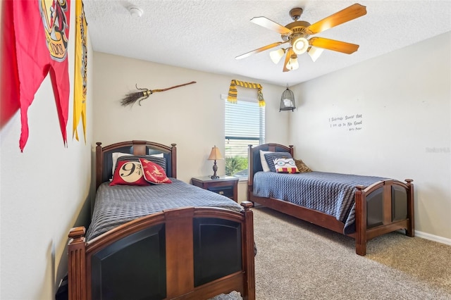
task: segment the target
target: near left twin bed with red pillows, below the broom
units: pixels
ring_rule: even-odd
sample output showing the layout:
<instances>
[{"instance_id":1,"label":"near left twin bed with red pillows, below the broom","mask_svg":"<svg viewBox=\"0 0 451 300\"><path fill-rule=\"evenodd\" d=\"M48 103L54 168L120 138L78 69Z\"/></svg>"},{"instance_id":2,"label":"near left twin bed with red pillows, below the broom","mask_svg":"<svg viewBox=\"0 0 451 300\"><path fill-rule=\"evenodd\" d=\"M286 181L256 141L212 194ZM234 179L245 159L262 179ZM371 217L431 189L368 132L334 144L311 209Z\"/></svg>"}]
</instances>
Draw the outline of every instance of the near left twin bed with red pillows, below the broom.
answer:
<instances>
[{"instance_id":1,"label":"near left twin bed with red pillows, below the broom","mask_svg":"<svg viewBox=\"0 0 451 300\"><path fill-rule=\"evenodd\" d=\"M126 175L144 158L171 183L111 186L117 153L132 154L117 159ZM69 233L69 299L209 299L233 291L255 299L252 203L177 180L176 158L175 144L97 143L92 223Z\"/></svg>"}]
</instances>

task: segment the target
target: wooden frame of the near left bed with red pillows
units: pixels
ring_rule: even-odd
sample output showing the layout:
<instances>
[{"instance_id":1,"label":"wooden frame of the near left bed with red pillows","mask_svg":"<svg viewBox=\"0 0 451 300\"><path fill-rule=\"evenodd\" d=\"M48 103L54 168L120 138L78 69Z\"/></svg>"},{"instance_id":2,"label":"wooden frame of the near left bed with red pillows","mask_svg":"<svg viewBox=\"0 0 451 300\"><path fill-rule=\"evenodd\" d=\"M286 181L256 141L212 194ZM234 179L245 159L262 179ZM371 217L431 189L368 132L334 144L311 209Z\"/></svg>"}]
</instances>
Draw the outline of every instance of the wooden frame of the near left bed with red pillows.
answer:
<instances>
[{"instance_id":1,"label":"wooden frame of the near left bed with red pillows","mask_svg":"<svg viewBox=\"0 0 451 300\"><path fill-rule=\"evenodd\" d=\"M113 152L163 152L168 177L176 177L175 144L130 141L102 147L98 142L97 187L111 178ZM68 235L69 299L111 299L109 292L116 292L115 299L143 295L209 299L237 291L243 299L254 300L252 203L241 205L241 212L170 209L132 220L89 242L85 242L85 227L73 228Z\"/></svg>"}]
</instances>

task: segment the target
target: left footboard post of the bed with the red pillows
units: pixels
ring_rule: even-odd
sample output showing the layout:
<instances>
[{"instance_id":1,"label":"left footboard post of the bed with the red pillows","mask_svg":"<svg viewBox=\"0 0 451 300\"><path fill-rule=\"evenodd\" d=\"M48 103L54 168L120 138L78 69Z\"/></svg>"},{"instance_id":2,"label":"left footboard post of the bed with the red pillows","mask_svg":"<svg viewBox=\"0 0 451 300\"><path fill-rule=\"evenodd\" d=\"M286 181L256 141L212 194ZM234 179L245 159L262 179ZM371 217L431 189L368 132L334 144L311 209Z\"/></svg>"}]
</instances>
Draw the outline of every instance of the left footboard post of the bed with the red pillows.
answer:
<instances>
[{"instance_id":1,"label":"left footboard post of the bed with the red pillows","mask_svg":"<svg viewBox=\"0 0 451 300\"><path fill-rule=\"evenodd\" d=\"M69 300L87 299L85 227L69 232L68 244L68 296ZM76 288L75 288L76 287Z\"/></svg>"}]
</instances>

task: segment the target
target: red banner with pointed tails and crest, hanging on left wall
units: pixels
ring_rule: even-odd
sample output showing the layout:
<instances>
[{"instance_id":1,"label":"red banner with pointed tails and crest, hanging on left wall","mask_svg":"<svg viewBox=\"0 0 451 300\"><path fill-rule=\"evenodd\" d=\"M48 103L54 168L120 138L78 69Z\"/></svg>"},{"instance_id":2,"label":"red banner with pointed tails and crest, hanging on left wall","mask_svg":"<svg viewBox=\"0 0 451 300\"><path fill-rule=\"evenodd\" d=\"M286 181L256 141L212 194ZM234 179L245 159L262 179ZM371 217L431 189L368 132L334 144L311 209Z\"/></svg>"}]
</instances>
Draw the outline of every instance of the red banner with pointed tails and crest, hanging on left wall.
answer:
<instances>
[{"instance_id":1,"label":"red banner with pointed tails and crest, hanging on left wall","mask_svg":"<svg viewBox=\"0 0 451 300\"><path fill-rule=\"evenodd\" d=\"M23 151L28 139L27 111L35 98L35 93L47 74L54 89L56 108L66 144L66 124L68 121L69 74L68 37L70 24L70 0L6 0L2 1L8 24L2 26L1 65L2 70L1 108L2 118L6 108L6 118L20 108L22 132L20 150ZM12 20L11 20L12 16ZM6 49L6 51L3 51ZM14 53L15 52L15 53ZM4 78L12 77L12 82ZM8 83L10 84L8 86ZM43 115L48 118L49 115ZM4 125L2 120L1 125Z\"/></svg>"}]
</instances>

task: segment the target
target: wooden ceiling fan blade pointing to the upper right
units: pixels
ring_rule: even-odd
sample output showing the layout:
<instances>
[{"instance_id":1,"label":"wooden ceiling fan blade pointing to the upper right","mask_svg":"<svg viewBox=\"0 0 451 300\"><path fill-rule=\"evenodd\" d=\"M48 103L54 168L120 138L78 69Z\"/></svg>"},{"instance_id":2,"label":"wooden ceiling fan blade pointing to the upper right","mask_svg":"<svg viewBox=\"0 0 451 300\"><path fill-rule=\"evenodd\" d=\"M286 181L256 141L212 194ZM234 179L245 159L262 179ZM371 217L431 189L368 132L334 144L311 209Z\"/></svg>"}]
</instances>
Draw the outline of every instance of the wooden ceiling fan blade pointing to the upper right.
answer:
<instances>
[{"instance_id":1,"label":"wooden ceiling fan blade pointing to the upper right","mask_svg":"<svg viewBox=\"0 0 451 300\"><path fill-rule=\"evenodd\" d=\"M309 35L315 35L316 33L323 32L324 30L354 20L355 18L362 17L362 15L366 15L366 6L352 4L352 6L349 6L342 11L338 11L337 13L329 15L328 17L323 18L323 20L319 20L310 25L307 27L307 32Z\"/></svg>"}]
</instances>

